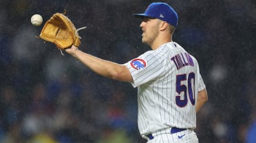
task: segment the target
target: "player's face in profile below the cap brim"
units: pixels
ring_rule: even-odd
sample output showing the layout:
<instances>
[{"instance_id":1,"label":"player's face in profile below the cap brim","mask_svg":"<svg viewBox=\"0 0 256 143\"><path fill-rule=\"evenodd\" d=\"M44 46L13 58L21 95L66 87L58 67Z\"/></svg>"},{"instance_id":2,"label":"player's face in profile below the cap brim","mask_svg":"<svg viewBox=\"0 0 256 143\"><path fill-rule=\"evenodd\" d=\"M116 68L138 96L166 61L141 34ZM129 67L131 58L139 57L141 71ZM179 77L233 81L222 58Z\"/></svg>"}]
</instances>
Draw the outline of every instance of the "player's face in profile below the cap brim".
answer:
<instances>
[{"instance_id":1,"label":"player's face in profile below the cap brim","mask_svg":"<svg viewBox=\"0 0 256 143\"><path fill-rule=\"evenodd\" d=\"M142 27L142 43L152 45L158 36L160 21L156 18L144 17L140 27Z\"/></svg>"}]
</instances>

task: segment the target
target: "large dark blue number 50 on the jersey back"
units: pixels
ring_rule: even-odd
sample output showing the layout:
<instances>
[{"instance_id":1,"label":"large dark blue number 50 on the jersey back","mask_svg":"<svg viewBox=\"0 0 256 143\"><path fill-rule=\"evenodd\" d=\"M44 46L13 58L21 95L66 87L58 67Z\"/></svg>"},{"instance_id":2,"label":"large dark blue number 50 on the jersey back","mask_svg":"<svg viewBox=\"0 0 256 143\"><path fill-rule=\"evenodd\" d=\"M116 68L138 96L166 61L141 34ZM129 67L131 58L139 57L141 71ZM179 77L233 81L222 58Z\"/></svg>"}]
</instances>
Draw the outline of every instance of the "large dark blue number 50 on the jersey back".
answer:
<instances>
[{"instance_id":1,"label":"large dark blue number 50 on the jersey back","mask_svg":"<svg viewBox=\"0 0 256 143\"><path fill-rule=\"evenodd\" d=\"M179 107L184 107L188 103L187 91L189 91L191 104L195 105L195 73L189 73L187 79L186 74L176 76L176 92L178 95L176 95L175 101ZM184 96L181 96L182 92Z\"/></svg>"}]
</instances>

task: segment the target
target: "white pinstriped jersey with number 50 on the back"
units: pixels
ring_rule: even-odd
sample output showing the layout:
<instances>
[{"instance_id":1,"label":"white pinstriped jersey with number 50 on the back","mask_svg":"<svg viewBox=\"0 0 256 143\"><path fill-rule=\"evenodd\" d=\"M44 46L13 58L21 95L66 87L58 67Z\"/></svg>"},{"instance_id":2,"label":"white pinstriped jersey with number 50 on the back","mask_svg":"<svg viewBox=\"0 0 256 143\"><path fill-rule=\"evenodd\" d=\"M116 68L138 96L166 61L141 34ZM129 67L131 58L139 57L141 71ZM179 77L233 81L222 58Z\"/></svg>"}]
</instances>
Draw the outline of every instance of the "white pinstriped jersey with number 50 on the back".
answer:
<instances>
[{"instance_id":1,"label":"white pinstriped jersey with number 50 on the back","mask_svg":"<svg viewBox=\"0 0 256 143\"><path fill-rule=\"evenodd\" d=\"M168 42L125 64L138 87L141 135L178 127L195 129L195 102L205 88L197 60L179 44Z\"/></svg>"}]
</instances>

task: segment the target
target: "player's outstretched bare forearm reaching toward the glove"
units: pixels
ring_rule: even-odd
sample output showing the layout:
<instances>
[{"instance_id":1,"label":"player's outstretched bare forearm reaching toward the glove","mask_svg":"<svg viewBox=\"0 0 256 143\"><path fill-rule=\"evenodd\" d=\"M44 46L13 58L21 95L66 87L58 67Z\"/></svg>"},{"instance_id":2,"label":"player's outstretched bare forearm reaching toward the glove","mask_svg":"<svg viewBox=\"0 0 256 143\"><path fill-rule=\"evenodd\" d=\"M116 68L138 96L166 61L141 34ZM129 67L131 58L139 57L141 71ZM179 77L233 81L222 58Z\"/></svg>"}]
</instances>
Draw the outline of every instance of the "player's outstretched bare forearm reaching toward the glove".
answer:
<instances>
[{"instance_id":1,"label":"player's outstretched bare forearm reaching toward the glove","mask_svg":"<svg viewBox=\"0 0 256 143\"><path fill-rule=\"evenodd\" d=\"M99 75L111 79L116 79L118 81L133 81L131 74L129 73L129 70L126 66L116 64L114 62L110 62L107 60L102 60L98 57L94 57L79 50L75 46L72 46L70 49L66 49L65 51L76 57L83 64L88 66L90 69L92 69L95 73L98 73Z\"/></svg>"}]
</instances>

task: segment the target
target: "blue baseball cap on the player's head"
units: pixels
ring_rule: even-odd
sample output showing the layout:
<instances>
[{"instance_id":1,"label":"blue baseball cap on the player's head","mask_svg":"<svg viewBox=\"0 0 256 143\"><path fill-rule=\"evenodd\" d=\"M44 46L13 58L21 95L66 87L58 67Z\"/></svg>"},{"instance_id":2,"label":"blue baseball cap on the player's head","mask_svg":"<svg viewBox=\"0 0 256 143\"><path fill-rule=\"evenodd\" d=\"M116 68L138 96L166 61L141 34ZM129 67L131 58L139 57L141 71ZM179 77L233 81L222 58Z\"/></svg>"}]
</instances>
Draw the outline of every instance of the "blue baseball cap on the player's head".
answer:
<instances>
[{"instance_id":1,"label":"blue baseball cap on the player's head","mask_svg":"<svg viewBox=\"0 0 256 143\"><path fill-rule=\"evenodd\" d=\"M166 21L170 25L177 27L178 25L178 14L173 8L167 3L151 3L144 14L133 14L138 18L148 16L151 18L158 18L162 21Z\"/></svg>"}]
</instances>

